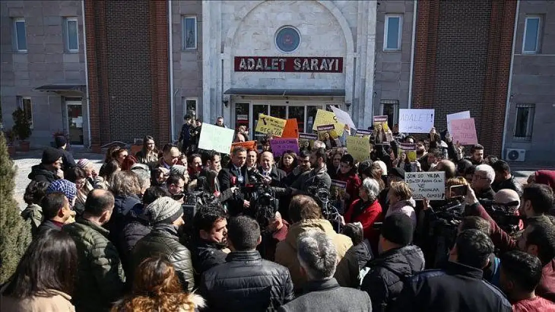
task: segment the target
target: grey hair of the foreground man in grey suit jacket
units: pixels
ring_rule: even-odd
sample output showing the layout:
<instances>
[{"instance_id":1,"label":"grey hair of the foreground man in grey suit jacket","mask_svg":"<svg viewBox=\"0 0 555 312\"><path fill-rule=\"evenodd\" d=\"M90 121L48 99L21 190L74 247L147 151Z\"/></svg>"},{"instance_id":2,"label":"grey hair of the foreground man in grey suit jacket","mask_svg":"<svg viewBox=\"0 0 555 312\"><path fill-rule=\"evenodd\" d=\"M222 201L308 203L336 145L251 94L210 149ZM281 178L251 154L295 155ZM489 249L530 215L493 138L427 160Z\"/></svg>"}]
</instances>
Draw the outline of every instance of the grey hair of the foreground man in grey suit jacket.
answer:
<instances>
[{"instance_id":1,"label":"grey hair of the foreground man in grey suit jacket","mask_svg":"<svg viewBox=\"0 0 555 312\"><path fill-rule=\"evenodd\" d=\"M302 233L297 248L297 259L309 280L324 280L334 276L337 248L326 233L317 230Z\"/></svg>"}]
</instances>

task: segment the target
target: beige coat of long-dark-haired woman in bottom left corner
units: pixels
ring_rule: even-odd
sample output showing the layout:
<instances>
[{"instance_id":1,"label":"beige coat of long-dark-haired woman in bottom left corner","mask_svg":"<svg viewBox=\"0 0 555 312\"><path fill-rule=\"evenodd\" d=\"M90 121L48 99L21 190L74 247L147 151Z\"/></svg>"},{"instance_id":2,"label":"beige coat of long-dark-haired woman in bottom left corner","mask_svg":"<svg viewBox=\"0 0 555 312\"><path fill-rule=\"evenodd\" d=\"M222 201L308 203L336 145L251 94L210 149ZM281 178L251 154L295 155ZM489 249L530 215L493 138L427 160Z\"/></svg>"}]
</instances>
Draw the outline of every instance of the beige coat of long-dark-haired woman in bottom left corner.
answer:
<instances>
[{"instance_id":1,"label":"beige coat of long-dark-haired woman in bottom left corner","mask_svg":"<svg viewBox=\"0 0 555 312\"><path fill-rule=\"evenodd\" d=\"M58 290L51 290L53 296L36 295L26 299L14 299L2 295L0 311L6 312L75 312L71 297Z\"/></svg>"}]
</instances>

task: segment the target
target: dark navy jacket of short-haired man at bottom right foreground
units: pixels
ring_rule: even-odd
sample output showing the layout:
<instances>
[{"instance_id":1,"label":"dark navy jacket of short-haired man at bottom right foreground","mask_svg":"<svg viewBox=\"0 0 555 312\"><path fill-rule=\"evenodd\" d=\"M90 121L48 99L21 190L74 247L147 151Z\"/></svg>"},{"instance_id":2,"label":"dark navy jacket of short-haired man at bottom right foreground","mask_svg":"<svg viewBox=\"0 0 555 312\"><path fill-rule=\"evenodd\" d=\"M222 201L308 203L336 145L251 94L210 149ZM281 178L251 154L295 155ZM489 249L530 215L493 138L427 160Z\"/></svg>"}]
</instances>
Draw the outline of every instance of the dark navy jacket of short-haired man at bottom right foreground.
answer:
<instances>
[{"instance_id":1,"label":"dark navy jacket of short-haired man at bottom right foreground","mask_svg":"<svg viewBox=\"0 0 555 312\"><path fill-rule=\"evenodd\" d=\"M509 312L502 291L482 279L482 270L448 262L443 270L425 270L405 283L391 311Z\"/></svg>"}]
</instances>

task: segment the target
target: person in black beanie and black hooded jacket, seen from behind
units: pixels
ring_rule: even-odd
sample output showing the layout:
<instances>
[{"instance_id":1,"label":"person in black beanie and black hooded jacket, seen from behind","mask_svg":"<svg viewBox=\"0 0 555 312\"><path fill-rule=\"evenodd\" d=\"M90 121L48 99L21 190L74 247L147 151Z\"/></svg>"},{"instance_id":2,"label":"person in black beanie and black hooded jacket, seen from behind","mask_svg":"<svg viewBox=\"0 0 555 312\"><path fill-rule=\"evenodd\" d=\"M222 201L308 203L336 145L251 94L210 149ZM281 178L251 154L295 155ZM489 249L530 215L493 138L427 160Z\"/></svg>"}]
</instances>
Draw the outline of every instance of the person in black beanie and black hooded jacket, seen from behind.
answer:
<instances>
[{"instance_id":1,"label":"person in black beanie and black hooded jacket, seen from behind","mask_svg":"<svg viewBox=\"0 0 555 312\"><path fill-rule=\"evenodd\" d=\"M361 284L361 290L370 295L372 310L388 311L405 281L424 269L422 250L411 245L413 232L412 220L405 214L394 213L385 218L379 256L366 264L370 271Z\"/></svg>"}]
</instances>

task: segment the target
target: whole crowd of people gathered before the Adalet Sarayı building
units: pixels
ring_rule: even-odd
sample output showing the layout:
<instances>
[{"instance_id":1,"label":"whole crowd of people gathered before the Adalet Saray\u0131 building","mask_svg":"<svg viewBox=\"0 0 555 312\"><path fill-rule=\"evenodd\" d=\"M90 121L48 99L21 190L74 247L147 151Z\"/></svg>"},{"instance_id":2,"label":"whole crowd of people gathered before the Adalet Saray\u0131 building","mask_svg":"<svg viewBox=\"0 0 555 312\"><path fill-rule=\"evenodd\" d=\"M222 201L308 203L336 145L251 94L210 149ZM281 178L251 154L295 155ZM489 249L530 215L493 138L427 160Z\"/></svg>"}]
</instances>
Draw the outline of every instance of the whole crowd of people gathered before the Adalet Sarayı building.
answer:
<instances>
[{"instance_id":1,"label":"whole crowd of people gathered before the Adalet Saray\u0131 building","mask_svg":"<svg viewBox=\"0 0 555 312\"><path fill-rule=\"evenodd\" d=\"M2 311L555 311L555 171L521 185L481 145L397 125L361 162L340 142L277 157L271 136L225 155L184 121L178 144L112 146L98 172L63 139L43 151ZM445 199L415 200L412 171L445 172Z\"/></svg>"}]
</instances>

